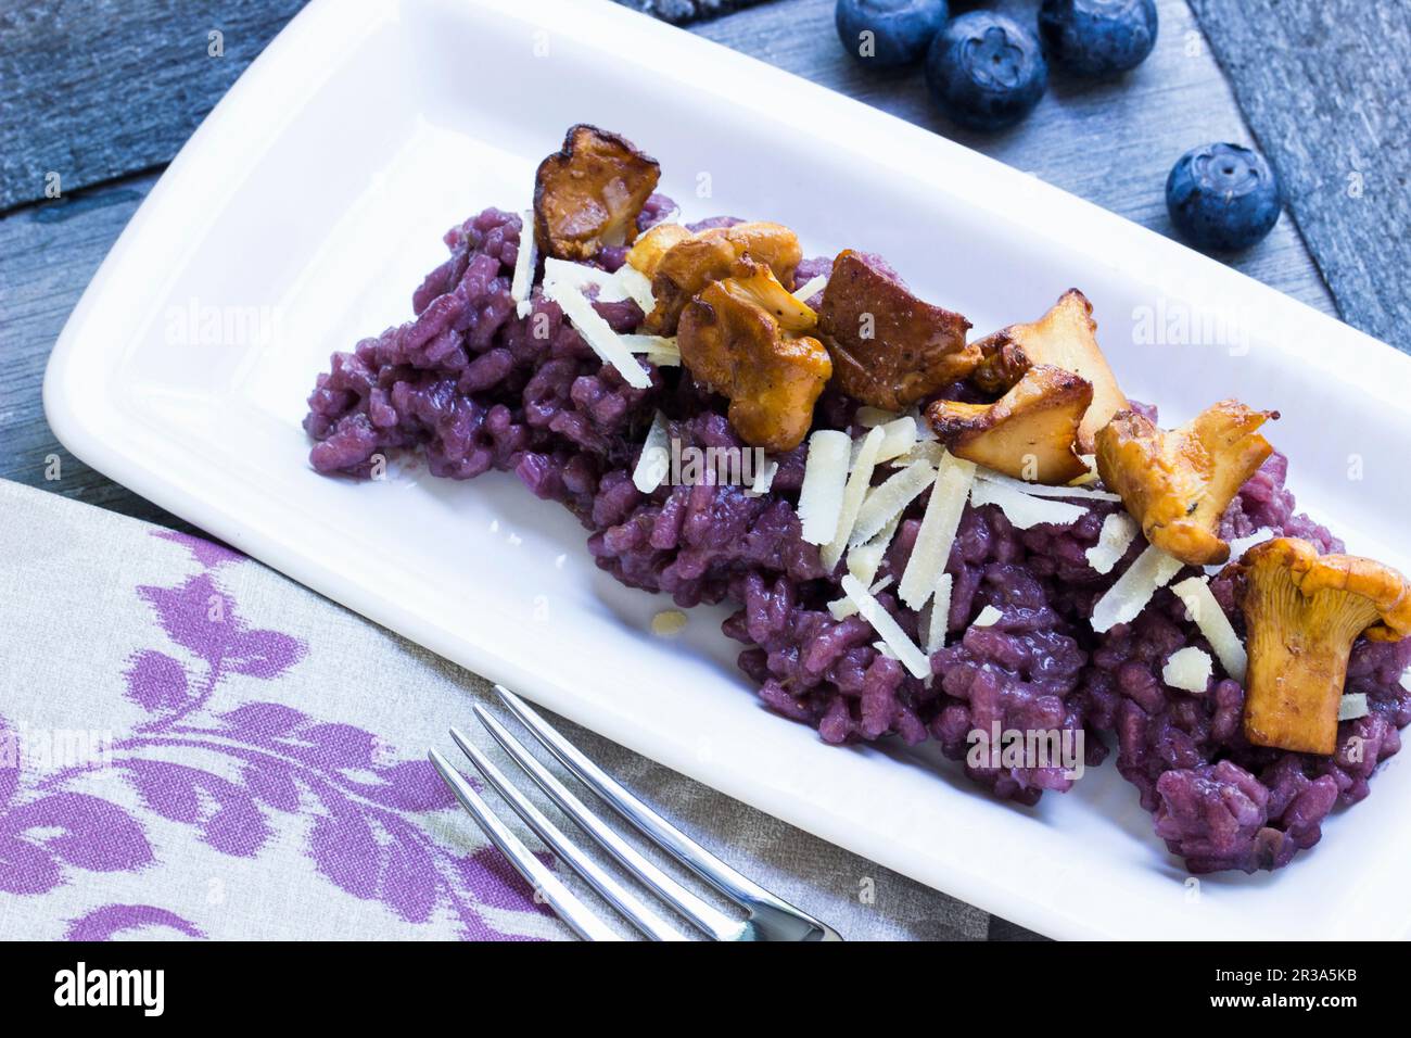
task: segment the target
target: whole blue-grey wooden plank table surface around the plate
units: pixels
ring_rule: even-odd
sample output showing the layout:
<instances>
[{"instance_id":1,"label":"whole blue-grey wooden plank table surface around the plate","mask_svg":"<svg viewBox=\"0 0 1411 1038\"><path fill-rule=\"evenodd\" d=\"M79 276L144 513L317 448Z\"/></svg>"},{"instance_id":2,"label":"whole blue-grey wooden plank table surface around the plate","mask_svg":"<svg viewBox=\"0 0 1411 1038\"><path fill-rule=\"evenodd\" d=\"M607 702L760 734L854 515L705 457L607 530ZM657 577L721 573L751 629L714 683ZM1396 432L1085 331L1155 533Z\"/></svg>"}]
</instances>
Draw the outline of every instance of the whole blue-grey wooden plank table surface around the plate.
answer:
<instances>
[{"instance_id":1,"label":"whole blue-grey wooden plank table surface around the plate","mask_svg":"<svg viewBox=\"0 0 1411 1038\"><path fill-rule=\"evenodd\" d=\"M663 0L622 1L684 10ZM1213 140L1257 138L1294 189L1292 217L1285 213L1233 266L1405 349L1411 4L1189 4L1194 11L1187 0L1158 0L1156 52L1123 80L1094 86L1055 75L1029 120L993 136L947 124L927 100L919 69L876 72L845 55L832 28L832 0L773 0L690 31L954 137L1163 233L1170 233L1165 177L1181 153ZM0 479L183 525L56 443L40 400L44 366L164 165L301 6L66 0L41 7L0 0ZM965 6L974 4L952 3ZM991 6L1031 18L1036 0ZM1376 59L1363 61L1359 48ZM1233 76L1222 72L1218 56ZM1246 116L1257 120L1253 133ZM1331 147L1342 134L1346 145ZM1352 174L1366 181L1360 193L1350 191ZM47 195L55 175L58 199Z\"/></svg>"}]
</instances>

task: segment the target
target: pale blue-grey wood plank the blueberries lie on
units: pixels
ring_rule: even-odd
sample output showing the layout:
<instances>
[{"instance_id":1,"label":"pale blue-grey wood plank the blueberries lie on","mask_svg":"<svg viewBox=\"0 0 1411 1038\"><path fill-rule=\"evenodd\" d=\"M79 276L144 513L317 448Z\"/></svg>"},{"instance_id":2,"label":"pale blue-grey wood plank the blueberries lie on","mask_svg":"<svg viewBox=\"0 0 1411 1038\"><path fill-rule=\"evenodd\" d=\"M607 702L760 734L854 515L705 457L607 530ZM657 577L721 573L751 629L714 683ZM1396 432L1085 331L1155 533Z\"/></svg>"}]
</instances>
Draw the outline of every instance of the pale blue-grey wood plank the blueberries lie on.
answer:
<instances>
[{"instance_id":1,"label":"pale blue-grey wood plank the blueberries lie on","mask_svg":"<svg viewBox=\"0 0 1411 1038\"><path fill-rule=\"evenodd\" d=\"M1031 18L1034 8L1031 0L988 6L1016 18ZM838 42L831 0L779 0L693 31L1170 234L1165 178L1175 160L1197 144L1249 143L1250 137L1185 0L1158 0L1158 7L1156 51L1137 69L1103 85L1055 73L1033 116L1000 134L976 134L950 124L927 96L920 68L862 68ZM1287 217L1233 266L1324 312L1335 312L1332 297Z\"/></svg>"}]
</instances>

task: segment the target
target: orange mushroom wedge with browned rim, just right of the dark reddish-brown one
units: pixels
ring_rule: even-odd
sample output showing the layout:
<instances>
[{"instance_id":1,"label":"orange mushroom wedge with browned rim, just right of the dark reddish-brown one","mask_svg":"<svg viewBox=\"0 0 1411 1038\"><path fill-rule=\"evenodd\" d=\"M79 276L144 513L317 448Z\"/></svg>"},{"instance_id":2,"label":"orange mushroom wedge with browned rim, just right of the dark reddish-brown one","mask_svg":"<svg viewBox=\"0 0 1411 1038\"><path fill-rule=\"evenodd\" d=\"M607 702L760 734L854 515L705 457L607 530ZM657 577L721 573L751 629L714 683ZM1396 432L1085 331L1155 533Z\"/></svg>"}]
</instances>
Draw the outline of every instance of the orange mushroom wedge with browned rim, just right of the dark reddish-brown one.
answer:
<instances>
[{"instance_id":1,"label":"orange mushroom wedge with browned rim, just right of the dark reddish-brown one","mask_svg":"<svg viewBox=\"0 0 1411 1038\"><path fill-rule=\"evenodd\" d=\"M926 417L957 458L1030 483L1061 484L1088 466L1074 451L1092 383L1036 364L993 404L937 400Z\"/></svg>"}]
</instances>

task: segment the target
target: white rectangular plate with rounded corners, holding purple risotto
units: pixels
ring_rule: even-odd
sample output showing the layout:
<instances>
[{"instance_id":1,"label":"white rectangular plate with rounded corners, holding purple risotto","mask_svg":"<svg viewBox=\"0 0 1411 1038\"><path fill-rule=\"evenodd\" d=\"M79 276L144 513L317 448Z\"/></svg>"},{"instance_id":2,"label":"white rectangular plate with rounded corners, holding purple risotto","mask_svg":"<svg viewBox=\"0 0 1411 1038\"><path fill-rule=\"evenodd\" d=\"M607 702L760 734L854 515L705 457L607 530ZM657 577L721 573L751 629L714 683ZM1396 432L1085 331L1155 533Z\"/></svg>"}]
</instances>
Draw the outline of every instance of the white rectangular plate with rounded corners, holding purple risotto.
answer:
<instances>
[{"instance_id":1,"label":"white rectangular plate with rounded corners, holding purple risotto","mask_svg":"<svg viewBox=\"0 0 1411 1038\"><path fill-rule=\"evenodd\" d=\"M569 514L512 477L316 476L299 421L329 353L405 321L442 232L488 205L523 208L535 164L576 121L656 155L690 217L780 220L806 254L879 251L976 332L1081 287L1130 395L1168 419L1221 397L1277 407L1271 438L1302 504L1405 566L1411 359L1024 174L607 3L308 7L182 150L73 312L45 381L55 432L436 652L1044 933L1408 932L1400 758L1291 869L1192 885L1110 763L1030 811L958 765L832 748L765 712L721 610L653 638L669 603L600 573ZM1206 322L1205 345L1139 345L1173 338L1144 335L1144 316L1180 339L1182 314L1233 315L1243 332Z\"/></svg>"}]
</instances>

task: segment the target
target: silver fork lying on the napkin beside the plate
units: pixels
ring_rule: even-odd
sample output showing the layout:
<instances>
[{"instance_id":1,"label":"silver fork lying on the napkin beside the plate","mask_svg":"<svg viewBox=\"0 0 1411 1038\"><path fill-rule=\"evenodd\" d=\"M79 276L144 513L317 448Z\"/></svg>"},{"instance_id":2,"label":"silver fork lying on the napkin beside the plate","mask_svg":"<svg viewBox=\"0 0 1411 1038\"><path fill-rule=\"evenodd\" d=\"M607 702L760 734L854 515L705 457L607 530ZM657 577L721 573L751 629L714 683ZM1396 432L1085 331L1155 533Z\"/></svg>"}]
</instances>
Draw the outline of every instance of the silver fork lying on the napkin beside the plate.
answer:
<instances>
[{"instance_id":1,"label":"silver fork lying on the napkin beside the plate","mask_svg":"<svg viewBox=\"0 0 1411 1038\"><path fill-rule=\"evenodd\" d=\"M523 768L529 777L547 794L549 799L571 818L579 828L591 836L604 850L635 876L642 885L683 915L696 929L714 941L841 941L837 931L818 922L787 901L783 901L758 883L741 876L683 832L666 822L646 804L628 792L602 768L584 757L576 746L560 736L549 723L519 696L502 685L495 685L495 693L509 708L511 713L552 753L563 767L595 792L610 808L639 829L648 839L666 850L682 864L710 883L715 890L745 909L745 918L738 919L718 911L703 901L655 864L648 861L626 843L615 830L588 811L559 778L531 754L490 710L477 705L476 717L490 732L491 737ZM470 757L471 763L505 798L525 823L538 833L560 860L581 876L634 926L653 941L686 941L686 935L662 919L610 873L593 861L573 840L564 836L539 808L536 808L508 778L491 763L480 748L456 729L450 730L456 746ZM559 918L586 941L618 941L617 932L594 915L587 905L574 897L567 887L516 837L508 826L490 809L474 787L466 781L450 761L436 750L428 753L430 763L446 780L460 805L485 830L509 863L549 902Z\"/></svg>"}]
</instances>

